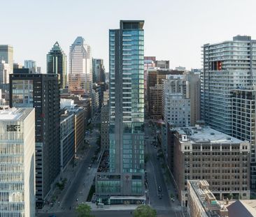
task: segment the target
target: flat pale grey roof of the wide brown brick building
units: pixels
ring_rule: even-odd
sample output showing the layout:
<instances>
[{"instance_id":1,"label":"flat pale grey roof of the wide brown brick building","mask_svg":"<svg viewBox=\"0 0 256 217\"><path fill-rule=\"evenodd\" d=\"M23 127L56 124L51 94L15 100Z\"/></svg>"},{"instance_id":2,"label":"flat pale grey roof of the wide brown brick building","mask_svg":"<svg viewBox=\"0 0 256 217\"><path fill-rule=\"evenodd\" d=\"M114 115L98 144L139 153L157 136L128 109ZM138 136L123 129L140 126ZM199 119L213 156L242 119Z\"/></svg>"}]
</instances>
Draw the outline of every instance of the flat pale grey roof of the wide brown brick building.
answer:
<instances>
[{"instance_id":1,"label":"flat pale grey roof of the wide brown brick building","mask_svg":"<svg viewBox=\"0 0 256 217\"><path fill-rule=\"evenodd\" d=\"M180 142L191 141L192 143L241 143L242 140L236 139L225 133L213 130L209 126L195 126L175 128L180 135L187 135L187 139Z\"/></svg>"}]
</instances>

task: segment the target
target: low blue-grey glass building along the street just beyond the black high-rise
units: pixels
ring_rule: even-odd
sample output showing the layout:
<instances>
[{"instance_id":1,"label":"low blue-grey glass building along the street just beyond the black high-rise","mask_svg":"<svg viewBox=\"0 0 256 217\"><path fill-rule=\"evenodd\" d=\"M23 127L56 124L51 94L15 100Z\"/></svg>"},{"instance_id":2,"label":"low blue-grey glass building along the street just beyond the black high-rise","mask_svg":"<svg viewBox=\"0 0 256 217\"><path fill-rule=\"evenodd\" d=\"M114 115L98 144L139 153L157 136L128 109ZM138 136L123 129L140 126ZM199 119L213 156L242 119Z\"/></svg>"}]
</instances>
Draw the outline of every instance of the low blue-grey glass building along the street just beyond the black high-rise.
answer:
<instances>
[{"instance_id":1,"label":"low blue-grey glass building along the street just beyond the black high-rise","mask_svg":"<svg viewBox=\"0 0 256 217\"><path fill-rule=\"evenodd\" d=\"M75 117L74 114L60 116L60 170L64 172L75 156Z\"/></svg>"}]
</instances>

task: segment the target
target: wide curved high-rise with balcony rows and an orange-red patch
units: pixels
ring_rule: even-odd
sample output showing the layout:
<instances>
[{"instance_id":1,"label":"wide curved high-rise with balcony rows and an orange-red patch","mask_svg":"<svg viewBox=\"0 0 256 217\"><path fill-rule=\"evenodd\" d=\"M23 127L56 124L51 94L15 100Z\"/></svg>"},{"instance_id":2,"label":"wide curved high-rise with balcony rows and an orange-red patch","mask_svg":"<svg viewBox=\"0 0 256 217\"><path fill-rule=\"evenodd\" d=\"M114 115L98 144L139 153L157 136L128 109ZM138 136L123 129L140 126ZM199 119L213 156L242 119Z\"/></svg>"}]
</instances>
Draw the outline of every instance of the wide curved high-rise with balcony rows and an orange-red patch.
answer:
<instances>
[{"instance_id":1,"label":"wide curved high-rise with balcony rows and an orange-red patch","mask_svg":"<svg viewBox=\"0 0 256 217\"><path fill-rule=\"evenodd\" d=\"M239 124L232 119L232 89L256 84L256 40L250 36L235 36L233 40L222 43L206 44L203 47L204 68L201 73L200 114L206 124L228 135ZM241 103L241 106L244 104ZM246 117L243 117L246 119ZM233 123L234 122L234 123ZM250 120L243 120L244 127L255 131ZM246 133L243 129L243 132ZM234 134L236 136L237 134ZM251 142L251 173L256 172L255 142ZM254 172L254 173L255 173ZM251 187L255 188L255 176L251 177Z\"/></svg>"}]
</instances>

